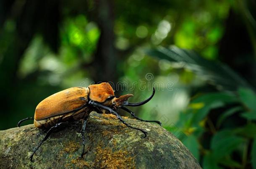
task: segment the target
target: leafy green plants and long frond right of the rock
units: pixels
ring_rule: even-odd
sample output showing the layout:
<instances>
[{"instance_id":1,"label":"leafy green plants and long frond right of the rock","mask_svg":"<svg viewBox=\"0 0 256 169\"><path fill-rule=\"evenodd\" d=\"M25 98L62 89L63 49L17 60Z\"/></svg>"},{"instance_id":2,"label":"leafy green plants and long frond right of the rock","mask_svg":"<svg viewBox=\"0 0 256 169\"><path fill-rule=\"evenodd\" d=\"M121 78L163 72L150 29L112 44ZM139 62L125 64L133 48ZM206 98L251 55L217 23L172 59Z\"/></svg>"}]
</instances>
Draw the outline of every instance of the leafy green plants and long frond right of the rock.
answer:
<instances>
[{"instance_id":1,"label":"leafy green plants and long frond right of the rock","mask_svg":"<svg viewBox=\"0 0 256 169\"><path fill-rule=\"evenodd\" d=\"M221 90L197 93L175 127L167 127L201 161L202 167L248 168L251 165L255 168L255 88L223 63L207 61L188 50L159 47L147 53L183 62L184 67L204 76Z\"/></svg>"}]
</instances>

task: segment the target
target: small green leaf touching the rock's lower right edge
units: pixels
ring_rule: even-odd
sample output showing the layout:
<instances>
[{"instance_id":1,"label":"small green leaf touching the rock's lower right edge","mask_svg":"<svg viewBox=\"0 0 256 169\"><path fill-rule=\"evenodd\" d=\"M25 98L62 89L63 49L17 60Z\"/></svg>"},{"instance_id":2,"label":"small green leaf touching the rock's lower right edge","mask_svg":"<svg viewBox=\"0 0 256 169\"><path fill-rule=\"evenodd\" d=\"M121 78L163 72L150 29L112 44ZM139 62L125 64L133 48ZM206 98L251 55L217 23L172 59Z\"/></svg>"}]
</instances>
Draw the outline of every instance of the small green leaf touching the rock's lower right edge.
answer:
<instances>
[{"instance_id":1,"label":"small green leaf touching the rock's lower right edge","mask_svg":"<svg viewBox=\"0 0 256 169\"><path fill-rule=\"evenodd\" d=\"M199 160L199 143L194 135L189 135L183 140L183 144L191 151L194 157Z\"/></svg>"}]
</instances>

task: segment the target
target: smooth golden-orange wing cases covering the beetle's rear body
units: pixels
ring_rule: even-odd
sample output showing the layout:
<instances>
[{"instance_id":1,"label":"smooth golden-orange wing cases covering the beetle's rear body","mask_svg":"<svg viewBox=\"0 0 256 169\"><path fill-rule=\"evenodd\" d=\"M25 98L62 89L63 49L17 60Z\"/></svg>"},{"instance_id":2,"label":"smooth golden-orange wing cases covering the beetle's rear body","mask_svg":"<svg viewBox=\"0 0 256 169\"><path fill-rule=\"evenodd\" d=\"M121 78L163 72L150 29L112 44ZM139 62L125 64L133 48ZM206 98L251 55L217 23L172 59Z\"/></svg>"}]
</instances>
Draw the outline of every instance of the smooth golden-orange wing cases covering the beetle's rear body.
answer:
<instances>
[{"instance_id":1,"label":"smooth golden-orange wing cases covering the beetle's rear body","mask_svg":"<svg viewBox=\"0 0 256 169\"><path fill-rule=\"evenodd\" d=\"M76 111L87 103L88 93L88 88L81 87L68 88L55 93L37 105L34 119L39 121Z\"/></svg>"}]
</instances>

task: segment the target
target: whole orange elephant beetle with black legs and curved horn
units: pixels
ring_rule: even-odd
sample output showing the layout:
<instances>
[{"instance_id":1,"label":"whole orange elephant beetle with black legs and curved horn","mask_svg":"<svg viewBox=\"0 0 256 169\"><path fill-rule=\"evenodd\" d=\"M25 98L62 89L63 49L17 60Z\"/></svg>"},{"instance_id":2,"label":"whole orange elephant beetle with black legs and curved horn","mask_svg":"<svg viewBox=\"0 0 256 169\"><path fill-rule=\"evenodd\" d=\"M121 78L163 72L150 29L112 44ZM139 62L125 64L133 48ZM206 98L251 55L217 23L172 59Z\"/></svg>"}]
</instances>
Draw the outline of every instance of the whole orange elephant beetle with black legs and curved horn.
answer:
<instances>
[{"instance_id":1,"label":"whole orange elephant beetle with black legs and curved horn","mask_svg":"<svg viewBox=\"0 0 256 169\"><path fill-rule=\"evenodd\" d=\"M55 93L43 101L41 101L35 110L34 118L26 118L18 122L17 126L20 127L21 123L26 120L34 120L34 126L37 128L49 129L44 139L38 144L34 149L33 154L30 156L30 160L39 147L44 141L48 139L52 131L58 126L83 120L81 137L83 140L83 151L80 157L84 156L84 132L86 129L86 124L91 111L96 111L99 114L109 113L114 114L117 118L126 126L139 130L144 133L146 137L147 132L143 129L139 129L127 124L123 118L118 114L118 108L121 108L131 114L135 119L146 122L155 122L157 124L161 123L159 121L148 121L138 118L131 110L125 106L141 106L152 99L155 90L153 88L152 95L146 100L139 103L129 103L128 98L133 96L132 94L126 94L120 97L116 97L114 91L109 83L104 82L100 84L90 85L88 87L72 87Z\"/></svg>"}]
</instances>

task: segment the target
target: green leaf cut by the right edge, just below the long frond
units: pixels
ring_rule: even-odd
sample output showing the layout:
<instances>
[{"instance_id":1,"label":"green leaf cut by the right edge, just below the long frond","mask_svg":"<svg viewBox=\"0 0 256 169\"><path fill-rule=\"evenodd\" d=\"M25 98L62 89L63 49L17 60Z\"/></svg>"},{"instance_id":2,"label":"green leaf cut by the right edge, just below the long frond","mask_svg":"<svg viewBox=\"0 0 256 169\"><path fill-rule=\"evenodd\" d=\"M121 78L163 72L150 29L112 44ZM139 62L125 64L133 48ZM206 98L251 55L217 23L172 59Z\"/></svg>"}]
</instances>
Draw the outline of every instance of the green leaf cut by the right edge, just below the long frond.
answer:
<instances>
[{"instance_id":1,"label":"green leaf cut by the right edge, just below the long frond","mask_svg":"<svg viewBox=\"0 0 256 169\"><path fill-rule=\"evenodd\" d=\"M240 99L251 110L256 111L256 94L249 88L239 88Z\"/></svg>"}]
</instances>

